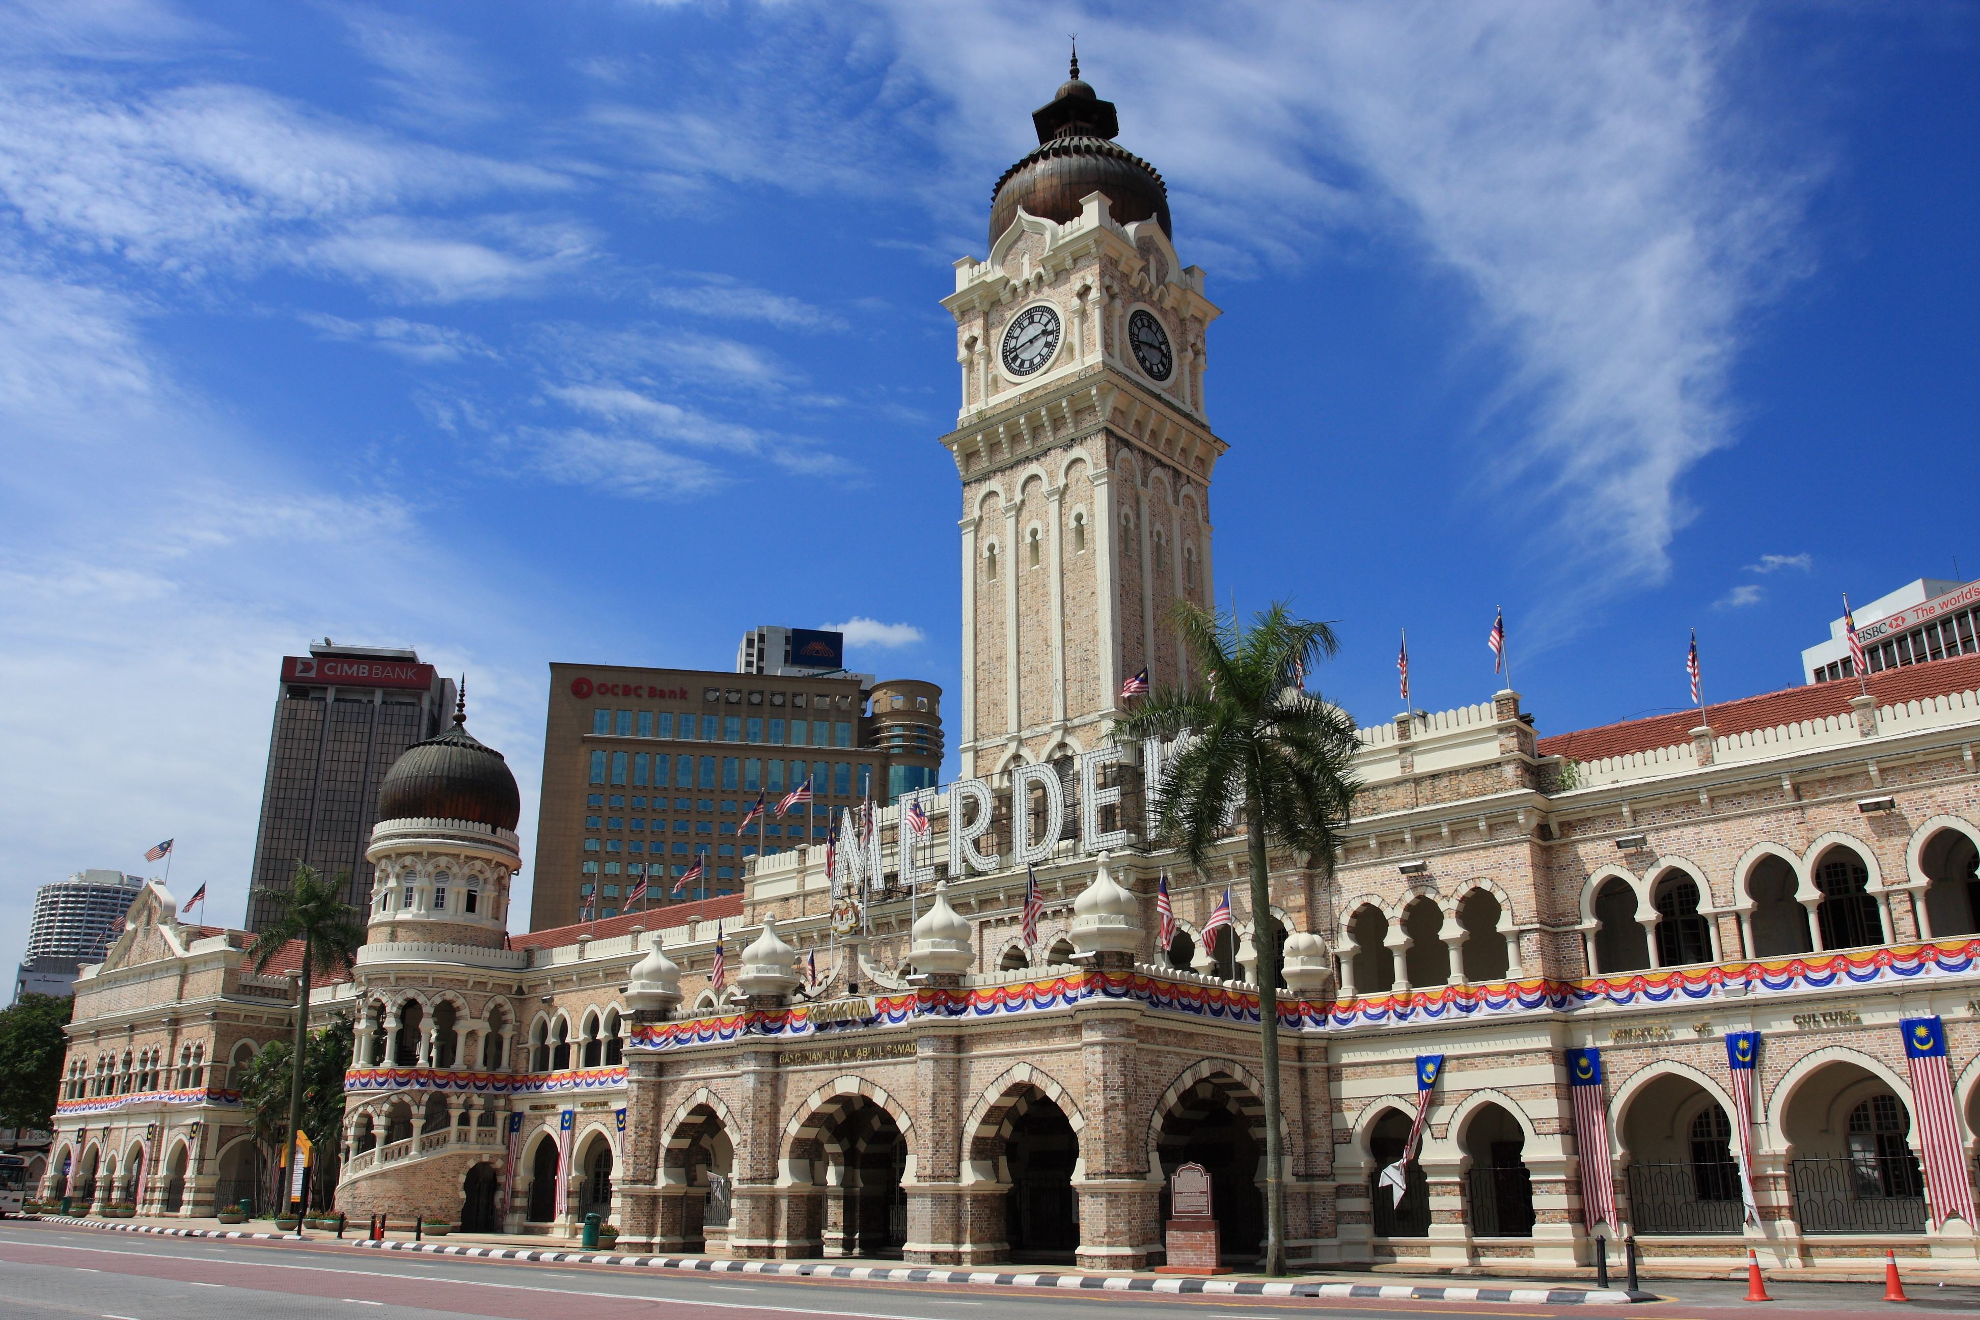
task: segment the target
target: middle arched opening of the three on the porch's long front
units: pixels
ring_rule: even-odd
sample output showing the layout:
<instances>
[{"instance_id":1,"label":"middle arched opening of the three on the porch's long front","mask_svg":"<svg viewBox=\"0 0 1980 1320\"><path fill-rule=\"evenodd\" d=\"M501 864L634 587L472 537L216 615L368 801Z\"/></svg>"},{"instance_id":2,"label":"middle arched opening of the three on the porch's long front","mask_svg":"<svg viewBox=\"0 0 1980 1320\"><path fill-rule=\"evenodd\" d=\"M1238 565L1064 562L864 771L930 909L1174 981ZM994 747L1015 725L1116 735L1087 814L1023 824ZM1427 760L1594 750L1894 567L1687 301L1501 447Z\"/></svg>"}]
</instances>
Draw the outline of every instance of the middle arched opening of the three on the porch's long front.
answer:
<instances>
[{"instance_id":1,"label":"middle arched opening of the three on the porch's long front","mask_svg":"<svg viewBox=\"0 0 1980 1320\"><path fill-rule=\"evenodd\" d=\"M828 1257L895 1257L907 1245L907 1140L883 1104L834 1096L792 1138L790 1164L824 1187Z\"/></svg>"}]
</instances>

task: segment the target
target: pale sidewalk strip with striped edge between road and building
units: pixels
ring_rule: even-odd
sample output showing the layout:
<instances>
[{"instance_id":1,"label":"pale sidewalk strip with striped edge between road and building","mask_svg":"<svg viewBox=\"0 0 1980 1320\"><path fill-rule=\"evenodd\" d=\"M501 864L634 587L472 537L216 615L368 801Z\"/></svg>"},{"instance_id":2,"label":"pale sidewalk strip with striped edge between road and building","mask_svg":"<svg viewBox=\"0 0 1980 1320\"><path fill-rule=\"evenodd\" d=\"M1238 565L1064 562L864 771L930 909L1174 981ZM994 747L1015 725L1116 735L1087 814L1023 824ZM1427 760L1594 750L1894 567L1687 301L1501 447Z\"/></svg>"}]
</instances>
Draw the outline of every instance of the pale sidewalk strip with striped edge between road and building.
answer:
<instances>
[{"instance_id":1,"label":"pale sidewalk strip with striped edge between road and building","mask_svg":"<svg viewBox=\"0 0 1980 1320\"><path fill-rule=\"evenodd\" d=\"M97 1229L103 1233L160 1233L168 1237L253 1239L295 1243L291 1233L275 1233L267 1221L222 1225L218 1219L79 1219L42 1215L42 1223ZM309 1231L311 1243L335 1243L329 1233ZM1653 1292L1584 1286L1485 1286L1449 1284L1432 1278L1394 1282L1323 1282L1319 1278L1263 1278L1257 1274L1220 1274L1196 1278L1148 1273L1093 1271L966 1271L925 1265L847 1265L842 1261L727 1261L715 1257L647 1257L572 1249L570 1243L481 1233L449 1233L438 1241L414 1243L390 1239L366 1241L362 1225L343 1239L356 1251L416 1251L426 1255L479 1257L487 1261L554 1261L558 1265L636 1267L659 1271L693 1271L709 1274L766 1274L778 1278L849 1278L863 1282L948 1282L992 1284L1008 1288L1077 1288L1105 1292L1160 1292L1206 1296L1297 1296L1329 1300L1418 1300L1418 1302L1521 1302L1546 1306L1628 1306L1661 1300ZM525 1245L527 1243L527 1245Z\"/></svg>"}]
</instances>

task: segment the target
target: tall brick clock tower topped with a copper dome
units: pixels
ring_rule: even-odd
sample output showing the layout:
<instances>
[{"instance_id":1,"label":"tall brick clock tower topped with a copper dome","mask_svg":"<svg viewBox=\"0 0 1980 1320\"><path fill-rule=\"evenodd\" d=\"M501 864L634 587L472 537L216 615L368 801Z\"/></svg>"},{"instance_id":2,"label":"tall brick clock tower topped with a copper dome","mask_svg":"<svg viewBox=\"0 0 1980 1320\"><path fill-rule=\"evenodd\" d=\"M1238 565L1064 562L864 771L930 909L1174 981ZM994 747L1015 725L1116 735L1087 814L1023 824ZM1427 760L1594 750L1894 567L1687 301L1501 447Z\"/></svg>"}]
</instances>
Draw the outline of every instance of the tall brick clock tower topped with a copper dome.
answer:
<instances>
[{"instance_id":1,"label":"tall brick clock tower topped with a copper dome","mask_svg":"<svg viewBox=\"0 0 1980 1320\"><path fill-rule=\"evenodd\" d=\"M1182 679L1176 600L1210 606L1204 273L1168 190L1071 79L998 180L990 257L956 261L962 408L962 774L1107 740L1121 685Z\"/></svg>"}]
</instances>

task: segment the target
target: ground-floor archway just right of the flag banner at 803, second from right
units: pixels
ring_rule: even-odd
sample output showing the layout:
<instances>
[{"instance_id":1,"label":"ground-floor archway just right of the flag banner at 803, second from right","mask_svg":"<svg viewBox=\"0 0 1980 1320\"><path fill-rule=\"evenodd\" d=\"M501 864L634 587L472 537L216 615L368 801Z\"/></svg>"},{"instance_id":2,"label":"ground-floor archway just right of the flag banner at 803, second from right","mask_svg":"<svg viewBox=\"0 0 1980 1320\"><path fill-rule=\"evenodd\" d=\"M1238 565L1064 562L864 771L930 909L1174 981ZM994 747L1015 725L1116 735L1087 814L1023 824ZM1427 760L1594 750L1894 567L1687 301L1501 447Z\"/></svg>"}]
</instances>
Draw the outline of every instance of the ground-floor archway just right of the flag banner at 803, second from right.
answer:
<instances>
[{"instance_id":1,"label":"ground-floor archway just right of the flag banner at 803, second from right","mask_svg":"<svg viewBox=\"0 0 1980 1320\"><path fill-rule=\"evenodd\" d=\"M1683 1073L1665 1073L1630 1096L1618 1130L1637 1233L1740 1233L1746 1209L1732 1122L1713 1092Z\"/></svg>"}]
</instances>

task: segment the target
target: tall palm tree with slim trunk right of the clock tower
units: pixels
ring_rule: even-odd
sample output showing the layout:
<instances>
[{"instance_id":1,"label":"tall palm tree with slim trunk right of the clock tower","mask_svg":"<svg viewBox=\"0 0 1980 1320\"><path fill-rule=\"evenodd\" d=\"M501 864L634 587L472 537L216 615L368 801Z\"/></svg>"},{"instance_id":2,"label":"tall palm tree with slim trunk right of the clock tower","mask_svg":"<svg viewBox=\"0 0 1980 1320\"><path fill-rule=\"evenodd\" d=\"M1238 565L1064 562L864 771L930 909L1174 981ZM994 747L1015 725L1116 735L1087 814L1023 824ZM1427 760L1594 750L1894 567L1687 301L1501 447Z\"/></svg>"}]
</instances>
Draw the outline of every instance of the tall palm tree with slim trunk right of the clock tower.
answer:
<instances>
[{"instance_id":1,"label":"tall palm tree with slim trunk right of the clock tower","mask_svg":"<svg viewBox=\"0 0 1980 1320\"><path fill-rule=\"evenodd\" d=\"M1251 944L1257 950L1259 1053L1265 1073L1265 1273L1285 1273L1285 1183L1279 1122L1279 924L1265 849L1279 845L1333 869L1360 784L1354 720L1305 691L1313 665L1338 649L1327 623L1295 619L1279 602L1241 627L1176 602L1170 621L1202 683L1152 693L1115 732L1180 738L1162 772L1154 843L1204 867L1241 821L1251 853ZM1186 736L1184 736L1186 734Z\"/></svg>"}]
</instances>

